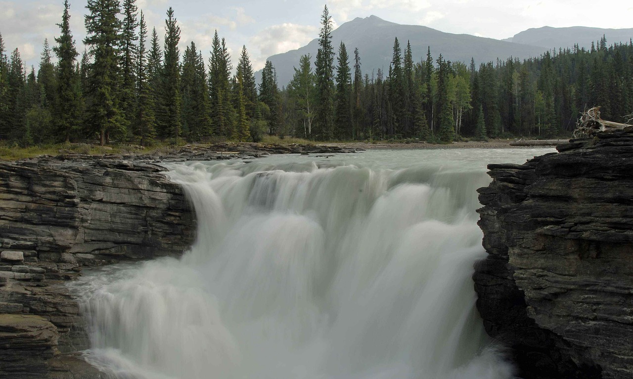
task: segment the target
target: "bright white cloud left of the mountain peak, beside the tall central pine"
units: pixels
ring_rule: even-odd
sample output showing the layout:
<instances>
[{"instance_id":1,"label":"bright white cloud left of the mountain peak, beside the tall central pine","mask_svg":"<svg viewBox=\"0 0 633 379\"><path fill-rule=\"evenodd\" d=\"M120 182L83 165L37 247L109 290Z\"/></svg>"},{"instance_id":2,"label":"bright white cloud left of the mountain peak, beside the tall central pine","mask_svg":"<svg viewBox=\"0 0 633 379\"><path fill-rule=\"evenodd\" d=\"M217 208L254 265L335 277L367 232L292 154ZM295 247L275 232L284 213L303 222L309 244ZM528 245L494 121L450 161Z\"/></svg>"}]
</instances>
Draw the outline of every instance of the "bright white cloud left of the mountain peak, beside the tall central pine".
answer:
<instances>
[{"instance_id":1,"label":"bright white cloud left of the mountain peak, beside the tall central pine","mask_svg":"<svg viewBox=\"0 0 633 379\"><path fill-rule=\"evenodd\" d=\"M297 25L282 23L265 28L254 35L249 41L253 50L253 68L259 70L266 63L269 56L298 49L308 44L318 35L318 27L312 25Z\"/></svg>"}]
</instances>

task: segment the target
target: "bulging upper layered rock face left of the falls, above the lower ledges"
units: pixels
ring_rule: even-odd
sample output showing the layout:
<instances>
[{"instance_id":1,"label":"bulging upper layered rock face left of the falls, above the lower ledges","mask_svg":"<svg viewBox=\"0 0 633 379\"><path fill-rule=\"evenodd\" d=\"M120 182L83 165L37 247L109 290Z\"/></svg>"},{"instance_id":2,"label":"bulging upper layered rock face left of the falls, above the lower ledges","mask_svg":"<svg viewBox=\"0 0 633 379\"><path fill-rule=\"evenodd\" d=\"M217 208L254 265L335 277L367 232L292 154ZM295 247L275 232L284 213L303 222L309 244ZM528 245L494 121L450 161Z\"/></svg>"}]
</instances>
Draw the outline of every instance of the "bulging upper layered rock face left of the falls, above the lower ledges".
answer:
<instances>
[{"instance_id":1,"label":"bulging upper layered rock face left of the falls, above the lower ledges","mask_svg":"<svg viewBox=\"0 0 633 379\"><path fill-rule=\"evenodd\" d=\"M107 159L0 162L0 247L54 263L180 254L192 216L163 170Z\"/></svg>"}]
</instances>

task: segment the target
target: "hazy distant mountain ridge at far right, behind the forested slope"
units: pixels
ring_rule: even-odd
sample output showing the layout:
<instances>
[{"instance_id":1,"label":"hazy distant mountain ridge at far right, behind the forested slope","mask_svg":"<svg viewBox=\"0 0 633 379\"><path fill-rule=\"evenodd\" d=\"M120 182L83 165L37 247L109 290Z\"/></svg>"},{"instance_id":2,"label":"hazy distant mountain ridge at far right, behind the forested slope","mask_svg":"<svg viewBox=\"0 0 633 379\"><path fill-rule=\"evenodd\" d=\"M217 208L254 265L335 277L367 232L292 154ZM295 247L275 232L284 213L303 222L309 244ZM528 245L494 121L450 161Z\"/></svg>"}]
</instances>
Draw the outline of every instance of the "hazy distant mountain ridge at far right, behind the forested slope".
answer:
<instances>
[{"instance_id":1,"label":"hazy distant mountain ridge at far right, behind the forested slope","mask_svg":"<svg viewBox=\"0 0 633 379\"><path fill-rule=\"evenodd\" d=\"M598 42L605 36L607 44L622 42L627 44L633 37L633 29L601 29L588 27L569 28L531 28L523 30L514 37L505 39L507 42L541 46L546 49L558 49L558 47L573 47L578 44L580 47L589 49L591 42Z\"/></svg>"}]
</instances>

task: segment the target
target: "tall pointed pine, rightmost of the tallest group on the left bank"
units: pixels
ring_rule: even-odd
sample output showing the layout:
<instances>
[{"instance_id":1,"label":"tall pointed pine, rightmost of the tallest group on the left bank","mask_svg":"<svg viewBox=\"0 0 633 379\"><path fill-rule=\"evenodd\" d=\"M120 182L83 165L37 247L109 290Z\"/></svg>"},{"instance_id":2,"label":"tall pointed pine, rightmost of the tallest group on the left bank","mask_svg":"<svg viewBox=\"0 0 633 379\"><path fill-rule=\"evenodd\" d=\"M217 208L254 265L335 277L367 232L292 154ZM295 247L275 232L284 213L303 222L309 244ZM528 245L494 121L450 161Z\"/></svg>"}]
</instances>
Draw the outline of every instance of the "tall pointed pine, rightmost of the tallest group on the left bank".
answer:
<instances>
[{"instance_id":1,"label":"tall pointed pine, rightmost of the tallest group on the left bank","mask_svg":"<svg viewBox=\"0 0 633 379\"><path fill-rule=\"evenodd\" d=\"M180 107L182 96L180 94L180 27L173 16L173 8L167 9L165 20L165 61L163 62L161 80L161 101L164 113L161 114L160 137L171 138L177 143L180 137L182 124L180 121Z\"/></svg>"}]
</instances>

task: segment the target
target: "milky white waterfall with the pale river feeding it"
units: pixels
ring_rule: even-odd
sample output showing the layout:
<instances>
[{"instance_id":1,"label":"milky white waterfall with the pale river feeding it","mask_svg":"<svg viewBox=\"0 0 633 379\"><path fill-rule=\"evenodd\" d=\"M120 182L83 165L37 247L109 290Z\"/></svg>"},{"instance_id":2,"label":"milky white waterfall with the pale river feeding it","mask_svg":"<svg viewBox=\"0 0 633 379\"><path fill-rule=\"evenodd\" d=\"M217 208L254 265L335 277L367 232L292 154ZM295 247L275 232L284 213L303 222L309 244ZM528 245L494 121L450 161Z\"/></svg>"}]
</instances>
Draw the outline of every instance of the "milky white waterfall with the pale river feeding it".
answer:
<instances>
[{"instance_id":1,"label":"milky white waterfall with the pale river feeding it","mask_svg":"<svg viewBox=\"0 0 633 379\"><path fill-rule=\"evenodd\" d=\"M121 378L511 378L474 308L475 190L487 163L544 152L172 165L197 241L77 283L89 359Z\"/></svg>"}]
</instances>

